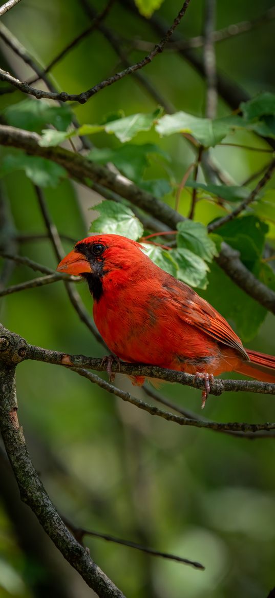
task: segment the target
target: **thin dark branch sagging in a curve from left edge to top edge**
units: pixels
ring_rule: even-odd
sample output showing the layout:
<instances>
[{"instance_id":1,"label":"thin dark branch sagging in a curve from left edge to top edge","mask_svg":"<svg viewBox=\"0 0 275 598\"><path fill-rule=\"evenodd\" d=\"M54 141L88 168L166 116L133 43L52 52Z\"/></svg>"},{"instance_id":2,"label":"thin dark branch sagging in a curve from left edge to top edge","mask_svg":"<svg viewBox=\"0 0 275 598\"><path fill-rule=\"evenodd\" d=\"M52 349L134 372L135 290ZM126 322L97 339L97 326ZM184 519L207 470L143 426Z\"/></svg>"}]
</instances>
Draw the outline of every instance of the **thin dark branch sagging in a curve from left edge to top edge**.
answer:
<instances>
[{"instance_id":1,"label":"thin dark branch sagging in a curve from left edge to top edge","mask_svg":"<svg viewBox=\"0 0 275 598\"><path fill-rule=\"evenodd\" d=\"M51 100L60 100L60 102L68 102L70 100L73 100L81 104L86 103L90 97L94 96L96 93L98 93L98 91L101 91L101 89L104 89L105 87L112 85L113 83L116 83L116 81L119 81L126 75L131 75L138 69L143 68L144 66L152 62L152 60L155 58L155 56L157 56L157 54L162 53L166 42L168 42L168 40L172 36L172 33L174 33L174 30L180 24L181 19L186 13L189 4L190 0L186 0L184 2L183 7L181 8L177 17L174 19L174 22L172 23L171 27L169 27L169 29L165 32L165 35L163 36L159 44L156 44L153 50L149 54L147 54L147 56L145 56L142 60L140 60L140 62L137 62L134 65L127 67L123 71L120 71L115 75L112 75L112 77L109 77L104 81L101 81L100 83L98 83L94 87L91 87L87 91L82 91L79 94L70 94L66 91L61 91L60 93L58 93L53 91L44 91L42 89L35 89L35 87L30 86L28 83L26 83L26 81L18 80L16 77L13 77L13 75L10 75L10 73L3 71L3 69L0 69L0 80L7 81L7 83L10 83L20 91L23 91L23 93L30 94L36 97L37 99L45 97Z\"/></svg>"}]
</instances>

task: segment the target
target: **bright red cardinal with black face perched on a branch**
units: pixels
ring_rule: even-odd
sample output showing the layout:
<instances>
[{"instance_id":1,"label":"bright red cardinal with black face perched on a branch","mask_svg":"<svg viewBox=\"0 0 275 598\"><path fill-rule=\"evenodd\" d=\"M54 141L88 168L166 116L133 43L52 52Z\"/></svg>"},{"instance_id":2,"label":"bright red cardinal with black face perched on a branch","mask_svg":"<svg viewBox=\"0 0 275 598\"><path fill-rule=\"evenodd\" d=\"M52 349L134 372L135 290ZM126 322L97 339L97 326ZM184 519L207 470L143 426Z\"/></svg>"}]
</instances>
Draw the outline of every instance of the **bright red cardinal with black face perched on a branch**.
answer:
<instances>
[{"instance_id":1,"label":"bright red cardinal with black face perched on a branch","mask_svg":"<svg viewBox=\"0 0 275 598\"><path fill-rule=\"evenodd\" d=\"M76 243L57 267L81 275L94 297L94 321L109 349L128 362L196 374L236 371L275 383L275 358L248 349L190 286L156 266L142 246L116 234ZM138 376L134 384L143 385Z\"/></svg>"}]
</instances>

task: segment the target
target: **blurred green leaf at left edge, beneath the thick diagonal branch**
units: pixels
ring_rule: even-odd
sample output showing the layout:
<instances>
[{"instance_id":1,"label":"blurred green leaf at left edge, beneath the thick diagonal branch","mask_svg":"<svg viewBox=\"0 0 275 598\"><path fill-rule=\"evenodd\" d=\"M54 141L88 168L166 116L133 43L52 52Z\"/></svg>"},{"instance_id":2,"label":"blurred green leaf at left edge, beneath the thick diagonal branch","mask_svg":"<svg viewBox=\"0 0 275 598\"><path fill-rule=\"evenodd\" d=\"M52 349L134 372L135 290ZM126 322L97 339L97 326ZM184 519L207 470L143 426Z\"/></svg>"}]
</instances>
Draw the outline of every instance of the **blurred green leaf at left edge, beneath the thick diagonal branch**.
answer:
<instances>
[{"instance_id":1,"label":"blurred green leaf at left edge, beneath the thick diagonal branch","mask_svg":"<svg viewBox=\"0 0 275 598\"><path fill-rule=\"evenodd\" d=\"M0 176L16 170L24 170L27 177L39 187L56 187L67 177L66 170L51 160L26 155L23 152L5 155L0 167Z\"/></svg>"}]
</instances>

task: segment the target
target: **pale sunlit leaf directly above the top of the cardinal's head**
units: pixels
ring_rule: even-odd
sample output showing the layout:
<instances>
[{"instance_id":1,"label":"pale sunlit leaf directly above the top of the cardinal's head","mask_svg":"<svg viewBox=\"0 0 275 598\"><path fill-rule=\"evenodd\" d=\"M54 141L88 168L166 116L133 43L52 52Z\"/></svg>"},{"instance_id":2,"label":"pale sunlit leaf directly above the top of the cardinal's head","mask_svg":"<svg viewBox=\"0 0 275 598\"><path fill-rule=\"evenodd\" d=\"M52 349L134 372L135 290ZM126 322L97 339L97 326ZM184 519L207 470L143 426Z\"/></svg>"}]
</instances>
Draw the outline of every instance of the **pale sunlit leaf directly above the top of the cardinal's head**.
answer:
<instances>
[{"instance_id":1,"label":"pale sunlit leaf directly above the top of the cardinal's head","mask_svg":"<svg viewBox=\"0 0 275 598\"><path fill-rule=\"evenodd\" d=\"M91 223L91 233L122 234L134 241L142 236L143 225L128 206L104 200L91 209L99 212L99 216Z\"/></svg>"}]
</instances>

